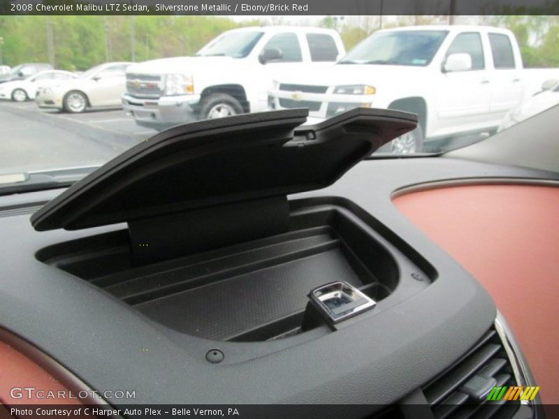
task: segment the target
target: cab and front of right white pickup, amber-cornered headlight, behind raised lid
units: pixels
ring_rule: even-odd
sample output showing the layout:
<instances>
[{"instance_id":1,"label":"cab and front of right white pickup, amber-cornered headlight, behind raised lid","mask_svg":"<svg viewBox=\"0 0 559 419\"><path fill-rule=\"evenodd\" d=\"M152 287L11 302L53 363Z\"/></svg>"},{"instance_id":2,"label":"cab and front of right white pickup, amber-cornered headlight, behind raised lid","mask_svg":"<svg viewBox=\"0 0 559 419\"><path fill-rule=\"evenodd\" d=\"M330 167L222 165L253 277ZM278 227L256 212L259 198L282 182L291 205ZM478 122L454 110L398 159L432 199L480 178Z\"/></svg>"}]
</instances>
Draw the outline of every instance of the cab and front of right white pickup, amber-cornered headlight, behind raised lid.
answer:
<instances>
[{"instance_id":1,"label":"cab and front of right white pickup, amber-cornered headlight, behind raised lid","mask_svg":"<svg viewBox=\"0 0 559 419\"><path fill-rule=\"evenodd\" d=\"M402 27L376 31L334 66L277 78L269 101L321 119L359 106L414 112L419 127L391 145L411 153L424 138L495 130L521 100L526 76L511 31Z\"/></svg>"}]
</instances>

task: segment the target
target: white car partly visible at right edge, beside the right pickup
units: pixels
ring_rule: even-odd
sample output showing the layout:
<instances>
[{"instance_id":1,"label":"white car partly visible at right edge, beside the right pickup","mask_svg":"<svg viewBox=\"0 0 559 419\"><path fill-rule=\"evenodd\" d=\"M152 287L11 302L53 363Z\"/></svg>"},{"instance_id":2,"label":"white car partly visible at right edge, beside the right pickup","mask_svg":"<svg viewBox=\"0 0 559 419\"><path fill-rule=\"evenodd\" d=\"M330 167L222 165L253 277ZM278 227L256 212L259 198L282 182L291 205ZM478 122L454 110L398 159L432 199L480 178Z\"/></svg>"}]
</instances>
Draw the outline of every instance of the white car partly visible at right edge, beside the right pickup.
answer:
<instances>
[{"instance_id":1,"label":"white car partly visible at right edge, beside the right pickup","mask_svg":"<svg viewBox=\"0 0 559 419\"><path fill-rule=\"evenodd\" d=\"M498 131L528 119L539 112L559 104L559 80L550 79L542 84L542 90L509 110L502 119Z\"/></svg>"}]
</instances>

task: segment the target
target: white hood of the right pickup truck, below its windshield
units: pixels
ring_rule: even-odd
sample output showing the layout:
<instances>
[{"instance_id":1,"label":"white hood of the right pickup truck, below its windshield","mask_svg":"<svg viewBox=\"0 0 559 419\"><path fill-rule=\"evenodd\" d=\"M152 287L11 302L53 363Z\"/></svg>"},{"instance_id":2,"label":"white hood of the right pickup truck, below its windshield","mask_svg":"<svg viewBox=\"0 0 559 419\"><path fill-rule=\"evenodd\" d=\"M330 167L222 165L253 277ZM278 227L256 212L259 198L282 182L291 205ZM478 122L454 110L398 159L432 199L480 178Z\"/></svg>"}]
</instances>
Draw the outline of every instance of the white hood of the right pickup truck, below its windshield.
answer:
<instances>
[{"instance_id":1,"label":"white hood of the right pickup truck, below its windshield","mask_svg":"<svg viewBox=\"0 0 559 419\"><path fill-rule=\"evenodd\" d=\"M416 80L418 70L424 67L417 66L382 66L374 64L335 64L322 68L291 74L278 82L290 84L311 84L335 86L342 84L372 84L383 80Z\"/></svg>"}]
</instances>

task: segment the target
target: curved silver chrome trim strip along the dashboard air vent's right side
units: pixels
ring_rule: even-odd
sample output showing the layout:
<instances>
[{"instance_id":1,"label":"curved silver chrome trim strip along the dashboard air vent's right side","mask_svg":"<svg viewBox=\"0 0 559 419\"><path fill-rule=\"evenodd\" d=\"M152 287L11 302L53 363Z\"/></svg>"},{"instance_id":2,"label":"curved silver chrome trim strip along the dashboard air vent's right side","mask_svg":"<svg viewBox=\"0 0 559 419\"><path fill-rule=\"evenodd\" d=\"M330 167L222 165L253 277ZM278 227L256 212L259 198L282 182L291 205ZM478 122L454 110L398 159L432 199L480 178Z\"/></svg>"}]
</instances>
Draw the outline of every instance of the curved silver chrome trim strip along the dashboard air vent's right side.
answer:
<instances>
[{"instance_id":1,"label":"curved silver chrome trim strip along the dashboard air vent's right side","mask_svg":"<svg viewBox=\"0 0 559 419\"><path fill-rule=\"evenodd\" d=\"M509 362L511 363L512 371L514 372L514 380L516 381L516 385L521 385L523 387L526 386L534 386L536 383L534 382L534 377L530 372L530 368L528 367L528 362L526 362L523 353L521 352L520 346L516 342L514 335L507 324L507 321L504 320L504 317L497 311L497 316L495 317L495 330L499 335L502 346L504 347L504 351L507 352ZM541 404L541 399L539 395L532 401L530 400L521 400L521 404Z\"/></svg>"}]
</instances>

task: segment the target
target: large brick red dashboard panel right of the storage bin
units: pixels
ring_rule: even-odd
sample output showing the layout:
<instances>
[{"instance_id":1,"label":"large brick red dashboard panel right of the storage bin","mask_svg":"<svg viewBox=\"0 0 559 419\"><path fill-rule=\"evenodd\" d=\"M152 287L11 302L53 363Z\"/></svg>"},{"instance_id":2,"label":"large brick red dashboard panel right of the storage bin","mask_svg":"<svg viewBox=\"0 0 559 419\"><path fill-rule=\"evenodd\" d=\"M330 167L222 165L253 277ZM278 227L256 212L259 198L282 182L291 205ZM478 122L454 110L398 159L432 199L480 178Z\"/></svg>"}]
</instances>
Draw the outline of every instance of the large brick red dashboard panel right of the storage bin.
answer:
<instances>
[{"instance_id":1,"label":"large brick red dashboard panel right of the storage bin","mask_svg":"<svg viewBox=\"0 0 559 419\"><path fill-rule=\"evenodd\" d=\"M559 188L452 186L393 203L491 293L542 401L559 404Z\"/></svg>"}]
</instances>

